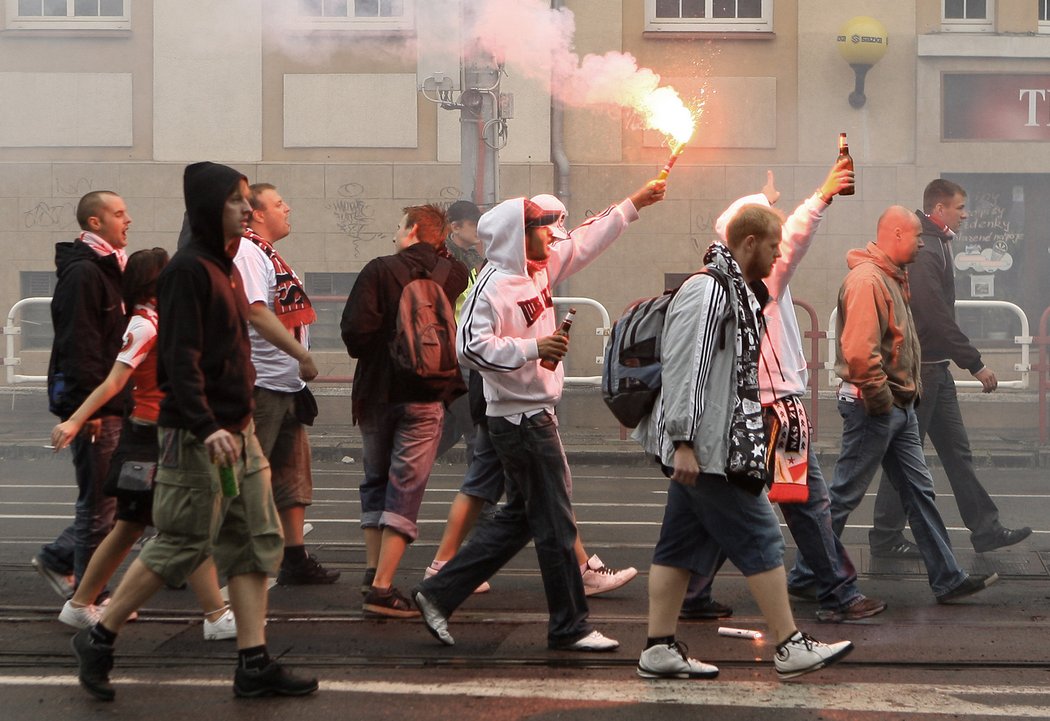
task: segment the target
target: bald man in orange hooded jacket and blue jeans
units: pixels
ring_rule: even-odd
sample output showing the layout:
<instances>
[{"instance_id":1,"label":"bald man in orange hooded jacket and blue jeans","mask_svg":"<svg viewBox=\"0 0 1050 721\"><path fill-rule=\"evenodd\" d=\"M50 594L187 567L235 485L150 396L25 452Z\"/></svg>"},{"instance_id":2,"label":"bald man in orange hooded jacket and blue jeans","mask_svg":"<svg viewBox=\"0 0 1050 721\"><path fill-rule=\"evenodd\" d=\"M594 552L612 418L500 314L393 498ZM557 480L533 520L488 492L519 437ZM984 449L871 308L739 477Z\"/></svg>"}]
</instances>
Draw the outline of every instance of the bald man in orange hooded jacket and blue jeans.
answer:
<instances>
[{"instance_id":1,"label":"bald man in orange hooded jacket and blue jeans","mask_svg":"<svg viewBox=\"0 0 1050 721\"><path fill-rule=\"evenodd\" d=\"M832 527L842 535L881 466L907 513L930 588L945 603L988 588L999 576L967 575L956 560L919 439L919 336L905 268L923 246L922 224L907 208L890 206L876 234L875 242L846 255L849 272L839 290L835 372L842 379L843 421L830 488ZM812 575L799 561L792 578L804 584Z\"/></svg>"}]
</instances>

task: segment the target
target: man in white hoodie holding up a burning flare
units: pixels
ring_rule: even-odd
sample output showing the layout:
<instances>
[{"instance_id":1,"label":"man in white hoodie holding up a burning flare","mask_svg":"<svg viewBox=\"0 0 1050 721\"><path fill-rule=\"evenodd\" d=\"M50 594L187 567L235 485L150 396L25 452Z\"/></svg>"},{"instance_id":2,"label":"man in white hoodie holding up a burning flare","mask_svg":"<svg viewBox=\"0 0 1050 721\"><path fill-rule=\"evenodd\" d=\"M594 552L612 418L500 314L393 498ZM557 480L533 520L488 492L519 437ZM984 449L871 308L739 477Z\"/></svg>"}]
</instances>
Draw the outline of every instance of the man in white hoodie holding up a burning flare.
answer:
<instances>
[{"instance_id":1,"label":"man in white hoodie holding up a burning flare","mask_svg":"<svg viewBox=\"0 0 1050 721\"><path fill-rule=\"evenodd\" d=\"M533 540L550 614L547 644L564 651L620 645L587 620L568 464L554 415L564 372L561 363L547 370L540 361L561 361L569 347L568 338L554 333L550 289L601 255L665 190L663 181L650 182L590 218L586 233L555 243L549 226L559 214L524 197L501 203L478 222L488 264L463 305L457 351L460 362L484 379L488 431L506 470L507 502L441 573L413 591L427 630L442 643L455 642L448 616Z\"/></svg>"}]
</instances>

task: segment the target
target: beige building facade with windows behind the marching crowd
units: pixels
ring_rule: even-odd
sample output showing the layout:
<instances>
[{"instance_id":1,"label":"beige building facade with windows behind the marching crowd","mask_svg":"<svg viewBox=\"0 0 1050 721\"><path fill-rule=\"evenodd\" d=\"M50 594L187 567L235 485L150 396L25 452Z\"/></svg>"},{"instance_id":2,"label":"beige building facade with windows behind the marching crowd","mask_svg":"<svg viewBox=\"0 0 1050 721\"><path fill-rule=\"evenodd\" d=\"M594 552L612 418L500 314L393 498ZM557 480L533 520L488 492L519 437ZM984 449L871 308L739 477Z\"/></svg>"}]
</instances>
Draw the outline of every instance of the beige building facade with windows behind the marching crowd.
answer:
<instances>
[{"instance_id":1,"label":"beige building facade with windows behind the marching crowd","mask_svg":"<svg viewBox=\"0 0 1050 721\"><path fill-rule=\"evenodd\" d=\"M322 375L349 375L339 297L391 252L402 207L471 193L461 168L469 133L458 109L442 107L464 100L464 2L3 0L0 308L49 293L54 243L77 233L83 193L126 198L129 250L173 250L183 167L224 162L275 184L293 208L281 252L319 299ZM1048 0L544 4L572 13L571 52L630 55L702 104L668 199L560 295L594 298L615 316L658 293L699 266L714 219L757 192L766 169L790 212L846 132L857 194L836 199L794 282L821 326L846 251L874 238L886 206L920 207L938 176L970 190L974 217L956 249L960 297L1016 302L1033 324L1050 305ZM860 108L837 42L857 16L886 30ZM529 28L507 24L529 39ZM559 190L574 224L664 165L663 136L631 109L560 98L527 57L505 60L500 91L512 102L501 108L500 198ZM597 324L584 313L579 326ZM26 314L20 372L42 373L46 310ZM1009 323L987 314L966 322L992 346ZM600 340L587 336L574 336L574 375L597 373Z\"/></svg>"}]
</instances>

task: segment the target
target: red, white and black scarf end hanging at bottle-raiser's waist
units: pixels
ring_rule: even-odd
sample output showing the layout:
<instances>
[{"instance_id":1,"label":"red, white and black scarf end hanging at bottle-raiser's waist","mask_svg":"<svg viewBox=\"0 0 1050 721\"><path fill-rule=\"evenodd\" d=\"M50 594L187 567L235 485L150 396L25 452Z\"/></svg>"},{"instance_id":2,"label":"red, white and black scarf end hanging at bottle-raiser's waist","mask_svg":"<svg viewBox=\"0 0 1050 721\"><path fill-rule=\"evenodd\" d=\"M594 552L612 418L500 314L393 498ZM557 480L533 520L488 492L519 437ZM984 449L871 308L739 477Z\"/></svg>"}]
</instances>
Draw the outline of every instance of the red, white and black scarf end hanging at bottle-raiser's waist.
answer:
<instances>
[{"instance_id":1,"label":"red, white and black scarf end hanging at bottle-raiser's waist","mask_svg":"<svg viewBox=\"0 0 1050 721\"><path fill-rule=\"evenodd\" d=\"M805 503L810 500L810 418L798 396L788 396L765 406L770 444L776 452L771 503Z\"/></svg>"}]
</instances>

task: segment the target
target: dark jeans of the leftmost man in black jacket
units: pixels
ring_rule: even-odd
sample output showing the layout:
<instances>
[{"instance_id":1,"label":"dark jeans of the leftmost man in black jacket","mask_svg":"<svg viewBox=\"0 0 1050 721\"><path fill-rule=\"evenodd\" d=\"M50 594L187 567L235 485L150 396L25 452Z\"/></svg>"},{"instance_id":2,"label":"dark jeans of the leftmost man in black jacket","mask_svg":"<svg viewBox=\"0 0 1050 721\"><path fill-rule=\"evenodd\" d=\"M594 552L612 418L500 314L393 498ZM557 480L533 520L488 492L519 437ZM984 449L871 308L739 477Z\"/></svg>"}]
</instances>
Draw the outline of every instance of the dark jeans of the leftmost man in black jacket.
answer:
<instances>
[{"instance_id":1,"label":"dark jeans of the leftmost man in black jacket","mask_svg":"<svg viewBox=\"0 0 1050 721\"><path fill-rule=\"evenodd\" d=\"M105 416L96 437L80 434L74 439L74 473L77 478L77 506L72 525L41 549L44 564L59 573L70 573L80 584L94 549L113 527L117 499L106 495L102 485L109 473L109 459L117 450L123 420Z\"/></svg>"}]
</instances>

